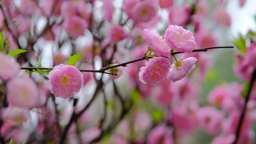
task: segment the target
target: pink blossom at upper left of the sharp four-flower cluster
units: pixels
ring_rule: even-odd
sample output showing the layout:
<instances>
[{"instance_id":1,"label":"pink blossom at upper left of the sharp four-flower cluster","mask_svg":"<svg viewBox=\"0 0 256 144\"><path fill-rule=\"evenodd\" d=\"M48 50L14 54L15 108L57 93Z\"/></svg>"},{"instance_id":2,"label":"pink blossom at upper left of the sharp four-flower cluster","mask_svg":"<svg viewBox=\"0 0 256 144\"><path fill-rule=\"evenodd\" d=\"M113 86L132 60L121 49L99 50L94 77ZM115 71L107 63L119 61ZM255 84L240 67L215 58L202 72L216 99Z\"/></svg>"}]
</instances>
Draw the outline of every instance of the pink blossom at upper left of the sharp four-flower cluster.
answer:
<instances>
[{"instance_id":1,"label":"pink blossom at upper left of the sharp four-flower cluster","mask_svg":"<svg viewBox=\"0 0 256 144\"><path fill-rule=\"evenodd\" d=\"M144 39L147 45L156 53L157 56L170 57L171 48L165 43L165 40L162 39L156 30L149 31L144 29Z\"/></svg>"}]
</instances>

